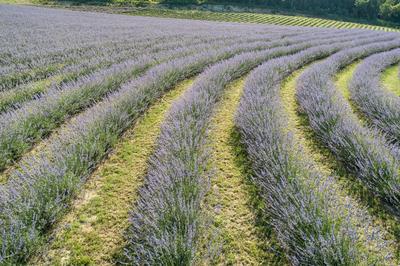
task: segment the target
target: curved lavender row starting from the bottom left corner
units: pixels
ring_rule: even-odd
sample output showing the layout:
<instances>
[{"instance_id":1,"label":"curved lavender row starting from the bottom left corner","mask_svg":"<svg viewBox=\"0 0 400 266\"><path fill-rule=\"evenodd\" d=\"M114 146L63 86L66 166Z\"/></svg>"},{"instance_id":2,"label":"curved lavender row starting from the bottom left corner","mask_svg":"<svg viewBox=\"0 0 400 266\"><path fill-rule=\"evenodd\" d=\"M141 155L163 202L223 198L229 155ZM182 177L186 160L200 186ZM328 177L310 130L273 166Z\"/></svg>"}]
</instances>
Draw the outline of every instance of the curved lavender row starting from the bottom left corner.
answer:
<instances>
[{"instance_id":1,"label":"curved lavender row starting from the bottom left corner","mask_svg":"<svg viewBox=\"0 0 400 266\"><path fill-rule=\"evenodd\" d=\"M40 245L43 232L65 211L121 132L152 101L206 65L246 50L257 48L236 45L158 65L79 115L50 138L44 150L24 158L0 187L1 259L24 261Z\"/></svg>"}]
</instances>

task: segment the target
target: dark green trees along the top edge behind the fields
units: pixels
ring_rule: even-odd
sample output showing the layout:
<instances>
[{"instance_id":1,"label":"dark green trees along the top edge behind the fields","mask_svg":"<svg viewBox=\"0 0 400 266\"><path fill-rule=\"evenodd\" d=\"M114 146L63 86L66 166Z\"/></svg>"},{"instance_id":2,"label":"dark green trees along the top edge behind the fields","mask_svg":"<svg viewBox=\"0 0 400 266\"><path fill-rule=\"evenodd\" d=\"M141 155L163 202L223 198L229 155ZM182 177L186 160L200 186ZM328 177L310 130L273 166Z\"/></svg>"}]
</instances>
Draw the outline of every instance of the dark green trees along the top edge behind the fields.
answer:
<instances>
[{"instance_id":1,"label":"dark green trees along the top edge behind the fields","mask_svg":"<svg viewBox=\"0 0 400 266\"><path fill-rule=\"evenodd\" d=\"M34 0L40 3L54 0ZM74 4L117 4L204 8L216 11L301 12L330 18L368 21L384 20L400 23L400 0L59 0Z\"/></svg>"}]
</instances>

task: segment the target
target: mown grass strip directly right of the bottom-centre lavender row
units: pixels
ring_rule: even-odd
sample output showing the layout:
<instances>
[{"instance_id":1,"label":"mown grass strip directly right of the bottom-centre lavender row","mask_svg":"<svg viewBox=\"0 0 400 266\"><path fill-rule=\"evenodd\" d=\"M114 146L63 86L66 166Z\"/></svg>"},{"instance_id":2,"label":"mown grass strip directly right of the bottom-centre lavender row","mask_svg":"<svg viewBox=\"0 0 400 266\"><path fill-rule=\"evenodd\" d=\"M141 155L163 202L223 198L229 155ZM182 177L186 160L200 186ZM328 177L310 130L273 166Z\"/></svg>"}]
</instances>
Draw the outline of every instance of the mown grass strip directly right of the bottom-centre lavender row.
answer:
<instances>
[{"instance_id":1,"label":"mown grass strip directly right of the bottom-centre lavender row","mask_svg":"<svg viewBox=\"0 0 400 266\"><path fill-rule=\"evenodd\" d=\"M218 264L271 265L282 258L272 252L276 243L257 224L256 191L248 180L249 168L234 127L243 85L241 78L228 86L211 120L208 137L215 175L206 200L222 241Z\"/></svg>"}]
</instances>

